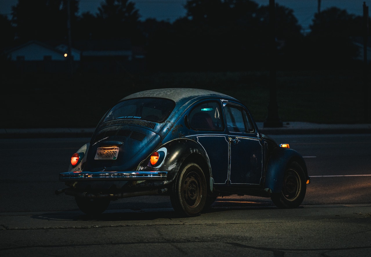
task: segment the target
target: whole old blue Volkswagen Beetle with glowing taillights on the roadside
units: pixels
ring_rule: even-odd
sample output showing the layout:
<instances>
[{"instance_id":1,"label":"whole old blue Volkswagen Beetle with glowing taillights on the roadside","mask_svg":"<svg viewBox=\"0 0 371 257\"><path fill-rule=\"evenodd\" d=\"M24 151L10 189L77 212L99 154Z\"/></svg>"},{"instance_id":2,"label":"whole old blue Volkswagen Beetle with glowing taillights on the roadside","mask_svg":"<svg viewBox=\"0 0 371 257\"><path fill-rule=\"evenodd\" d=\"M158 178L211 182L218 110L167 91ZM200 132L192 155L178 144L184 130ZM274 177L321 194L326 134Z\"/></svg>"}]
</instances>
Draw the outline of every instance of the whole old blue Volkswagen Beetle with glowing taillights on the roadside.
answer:
<instances>
[{"instance_id":1,"label":"whole old blue Volkswagen Beetle with glowing taillights on the roadside","mask_svg":"<svg viewBox=\"0 0 371 257\"><path fill-rule=\"evenodd\" d=\"M75 197L86 214L104 212L119 198L169 195L174 210L187 217L232 194L297 208L309 183L302 156L260 134L246 106L191 88L122 98L59 180L68 187L57 192Z\"/></svg>"}]
</instances>

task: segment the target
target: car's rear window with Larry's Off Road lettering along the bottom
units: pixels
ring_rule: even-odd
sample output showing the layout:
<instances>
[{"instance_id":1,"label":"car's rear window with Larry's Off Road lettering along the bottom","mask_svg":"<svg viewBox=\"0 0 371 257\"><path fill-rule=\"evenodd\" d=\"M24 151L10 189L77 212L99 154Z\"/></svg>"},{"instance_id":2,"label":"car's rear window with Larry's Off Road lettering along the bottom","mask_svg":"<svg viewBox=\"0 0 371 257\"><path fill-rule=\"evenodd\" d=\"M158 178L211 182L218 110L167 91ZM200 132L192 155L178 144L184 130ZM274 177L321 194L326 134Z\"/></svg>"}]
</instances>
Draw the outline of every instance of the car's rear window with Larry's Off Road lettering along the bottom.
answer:
<instances>
[{"instance_id":1,"label":"car's rear window with Larry's Off Road lettering along the bottom","mask_svg":"<svg viewBox=\"0 0 371 257\"><path fill-rule=\"evenodd\" d=\"M144 119L163 122L173 111L175 102L165 98L135 98L117 103L104 122L115 119Z\"/></svg>"}]
</instances>

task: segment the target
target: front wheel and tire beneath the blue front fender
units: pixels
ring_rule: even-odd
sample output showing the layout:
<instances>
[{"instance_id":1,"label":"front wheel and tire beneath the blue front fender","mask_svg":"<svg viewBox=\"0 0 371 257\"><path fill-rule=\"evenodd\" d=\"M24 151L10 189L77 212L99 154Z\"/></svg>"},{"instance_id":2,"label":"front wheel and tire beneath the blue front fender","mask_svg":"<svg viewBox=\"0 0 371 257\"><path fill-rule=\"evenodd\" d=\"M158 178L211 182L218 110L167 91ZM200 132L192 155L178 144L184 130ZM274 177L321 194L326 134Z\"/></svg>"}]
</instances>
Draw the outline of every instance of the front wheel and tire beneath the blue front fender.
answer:
<instances>
[{"instance_id":1,"label":"front wheel and tire beneath the blue front fender","mask_svg":"<svg viewBox=\"0 0 371 257\"><path fill-rule=\"evenodd\" d=\"M270 195L270 199L278 208L298 208L304 200L306 192L306 176L303 168L292 162L285 171L282 191Z\"/></svg>"}]
</instances>

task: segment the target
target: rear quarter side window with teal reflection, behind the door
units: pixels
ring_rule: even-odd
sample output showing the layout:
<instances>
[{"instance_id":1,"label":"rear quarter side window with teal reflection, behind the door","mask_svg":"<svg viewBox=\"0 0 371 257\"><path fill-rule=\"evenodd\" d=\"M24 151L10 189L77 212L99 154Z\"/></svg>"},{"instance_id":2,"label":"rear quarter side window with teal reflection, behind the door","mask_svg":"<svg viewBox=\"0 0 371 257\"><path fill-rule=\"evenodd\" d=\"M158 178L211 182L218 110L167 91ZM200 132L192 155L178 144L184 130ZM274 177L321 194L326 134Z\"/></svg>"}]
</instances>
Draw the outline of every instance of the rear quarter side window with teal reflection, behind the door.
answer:
<instances>
[{"instance_id":1,"label":"rear quarter side window with teal reflection, behind the door","mask_svg":"<svg viewBox=\"0 0 371 257\"><path fill-rule=\"evenodd\" d=\"M223 116L218 102L204 102L189 113L189 123L193 130L223 131Z\"/></svg>"}]
</instances>

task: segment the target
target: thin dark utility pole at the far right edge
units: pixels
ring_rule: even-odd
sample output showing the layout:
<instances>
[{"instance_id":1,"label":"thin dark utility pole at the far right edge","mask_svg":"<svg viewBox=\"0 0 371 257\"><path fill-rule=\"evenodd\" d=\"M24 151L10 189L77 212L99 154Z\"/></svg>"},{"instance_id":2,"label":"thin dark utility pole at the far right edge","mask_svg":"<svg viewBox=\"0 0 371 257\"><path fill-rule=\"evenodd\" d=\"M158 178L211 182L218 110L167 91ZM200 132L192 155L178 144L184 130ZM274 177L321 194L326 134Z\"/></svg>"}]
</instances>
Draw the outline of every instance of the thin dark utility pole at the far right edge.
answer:
<instances>
[{"instance_id":1,"label":"thin dark utility pole at the far right edge","mask_svg":"<svg viewBox=\"0 0 371 257\"><path fill-rule=\"evenodd\" d=\"M368 62L367 62L367 39L368 39L368 6L363 2L363 95L364 95L364 122L368 122Z\"/></svg>"}]
</instances>

